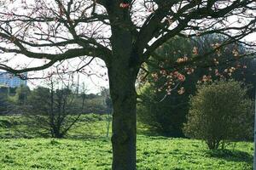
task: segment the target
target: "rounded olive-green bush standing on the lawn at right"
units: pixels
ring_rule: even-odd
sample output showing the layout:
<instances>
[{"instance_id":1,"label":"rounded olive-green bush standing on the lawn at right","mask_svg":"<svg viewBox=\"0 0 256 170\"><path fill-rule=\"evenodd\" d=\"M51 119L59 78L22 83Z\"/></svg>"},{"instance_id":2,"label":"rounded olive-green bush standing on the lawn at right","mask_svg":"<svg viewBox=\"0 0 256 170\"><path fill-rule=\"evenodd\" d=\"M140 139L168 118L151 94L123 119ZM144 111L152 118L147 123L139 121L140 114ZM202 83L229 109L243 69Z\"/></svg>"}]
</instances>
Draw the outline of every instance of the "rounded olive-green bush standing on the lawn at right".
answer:
<instances>
[{"instance_id":1,"label":"rounded olive-green bush standing on the lawn at right","mask_svg":"<svg viewBox=\"0 0 256 170\"><path fill-rule=\"evenodd\" d=\"M199 86L189 101L185 135L205 140L212 150L253 133L252 101L247 98L247 88L241 86L241 82L233 80Z\"/></svg>"}]
</instances>

